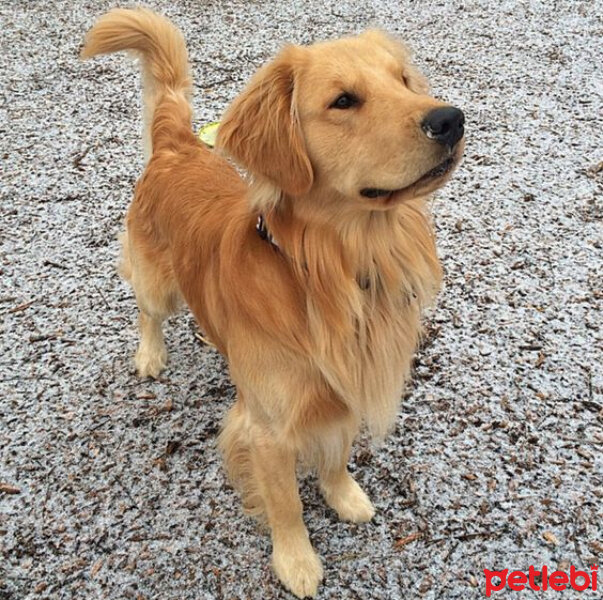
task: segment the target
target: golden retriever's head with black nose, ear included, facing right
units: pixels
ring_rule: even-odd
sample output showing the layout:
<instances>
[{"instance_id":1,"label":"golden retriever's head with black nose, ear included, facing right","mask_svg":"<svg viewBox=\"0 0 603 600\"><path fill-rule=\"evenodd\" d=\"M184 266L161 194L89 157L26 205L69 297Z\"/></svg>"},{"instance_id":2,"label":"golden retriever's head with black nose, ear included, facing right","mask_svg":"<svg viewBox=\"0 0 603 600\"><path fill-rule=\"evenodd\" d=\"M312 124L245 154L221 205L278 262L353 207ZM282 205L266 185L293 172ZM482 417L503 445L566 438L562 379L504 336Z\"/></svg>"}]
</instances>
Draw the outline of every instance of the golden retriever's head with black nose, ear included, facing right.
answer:
<instances>
[{"instance_id":1,"label":"golden retriever's head with black nose, ear included, facing right","mask_svg":"<svg viewBox=\"0 0 603 600\"><path fill-rule=\"evenodd\" d=\"M251 173L261 210L311 190L388 209L442 186L462 155L463 113L428 91L379 31L289 46L234 100L218 147Z\"/></svg>"}]
</instances>

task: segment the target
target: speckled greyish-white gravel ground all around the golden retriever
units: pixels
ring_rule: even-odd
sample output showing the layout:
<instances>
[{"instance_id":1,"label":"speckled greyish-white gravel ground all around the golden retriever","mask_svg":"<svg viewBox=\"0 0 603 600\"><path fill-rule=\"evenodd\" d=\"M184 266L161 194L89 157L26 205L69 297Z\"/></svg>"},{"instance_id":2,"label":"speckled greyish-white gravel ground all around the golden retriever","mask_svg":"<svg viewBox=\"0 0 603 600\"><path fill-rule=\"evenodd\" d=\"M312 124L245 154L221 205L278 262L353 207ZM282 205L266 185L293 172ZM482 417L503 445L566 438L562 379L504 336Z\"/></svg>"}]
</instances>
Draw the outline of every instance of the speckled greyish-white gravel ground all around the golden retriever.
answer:
<instances>
[{"instance_id":1,"label":"speckled greyish-white gravel ground all around the golden retriever","mask_svg":"<svg viewBox=\"0 0 603 600\"><path fill-rule=\"evenodd\" d=\"M138 72L77 59L113 5L0 0L0 599L290 598L225 481L233 388L190 315L169 324L164 379L133 372L114 265L142 166ZM352 458L378 514L339 523L302 484L319 597L466 600L485 568L600 564L603 3L149 5L185 33L197 125L283 42L369 25L406 39L467 116L434 203L430 335L395 431Z\"/></svg>"}]
</instances>

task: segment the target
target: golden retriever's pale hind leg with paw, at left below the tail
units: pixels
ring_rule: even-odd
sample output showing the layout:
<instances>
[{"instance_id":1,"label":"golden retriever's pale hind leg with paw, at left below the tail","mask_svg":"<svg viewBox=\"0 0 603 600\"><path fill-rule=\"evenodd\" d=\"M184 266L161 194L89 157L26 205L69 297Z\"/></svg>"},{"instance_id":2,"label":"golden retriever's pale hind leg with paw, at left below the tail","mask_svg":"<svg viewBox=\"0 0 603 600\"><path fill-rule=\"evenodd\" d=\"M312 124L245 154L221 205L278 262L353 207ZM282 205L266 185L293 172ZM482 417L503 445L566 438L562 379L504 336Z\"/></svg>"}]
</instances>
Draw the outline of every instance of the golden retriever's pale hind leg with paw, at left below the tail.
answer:
<instances>
[{"instance_id":1,"label":"golden retriever's pale hind leg with paw, at left below the tail","mask_svg":"<svg viewBox=\"0 0 603 600\"><path fill-rule=\"evenodd\" d=\"M140 310L140 343L134 357L136 370L140 377L157 378L167 364L161 326L180 304L169 258L166 252L128 231L122 236L120 273L130 281Z\"/></svg>"}]
</instances>

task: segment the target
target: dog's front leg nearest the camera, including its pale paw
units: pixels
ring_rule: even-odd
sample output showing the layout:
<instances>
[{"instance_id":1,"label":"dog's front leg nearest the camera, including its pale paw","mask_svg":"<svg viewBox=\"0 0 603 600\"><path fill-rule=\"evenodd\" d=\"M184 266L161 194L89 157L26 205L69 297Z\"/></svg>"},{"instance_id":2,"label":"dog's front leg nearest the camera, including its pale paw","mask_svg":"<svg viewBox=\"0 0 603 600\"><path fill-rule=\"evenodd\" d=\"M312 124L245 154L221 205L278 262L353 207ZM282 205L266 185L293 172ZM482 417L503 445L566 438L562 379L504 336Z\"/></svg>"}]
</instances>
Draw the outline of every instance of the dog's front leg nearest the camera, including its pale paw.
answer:
<instances>
[{"instance_id":1,"label":"dog's front leg nearest the camera, including its pale paw","mask_svg":"<svg viewBox=\"0 0 603 600\"><path fill-rule=\"evenodd\" d=\"M296 596L316 595L323 571L302 518L295 475L296 452L266 429L254 431L251 461L272 533L272 564L283 585Z\"/></svg>"}]
</instances>

